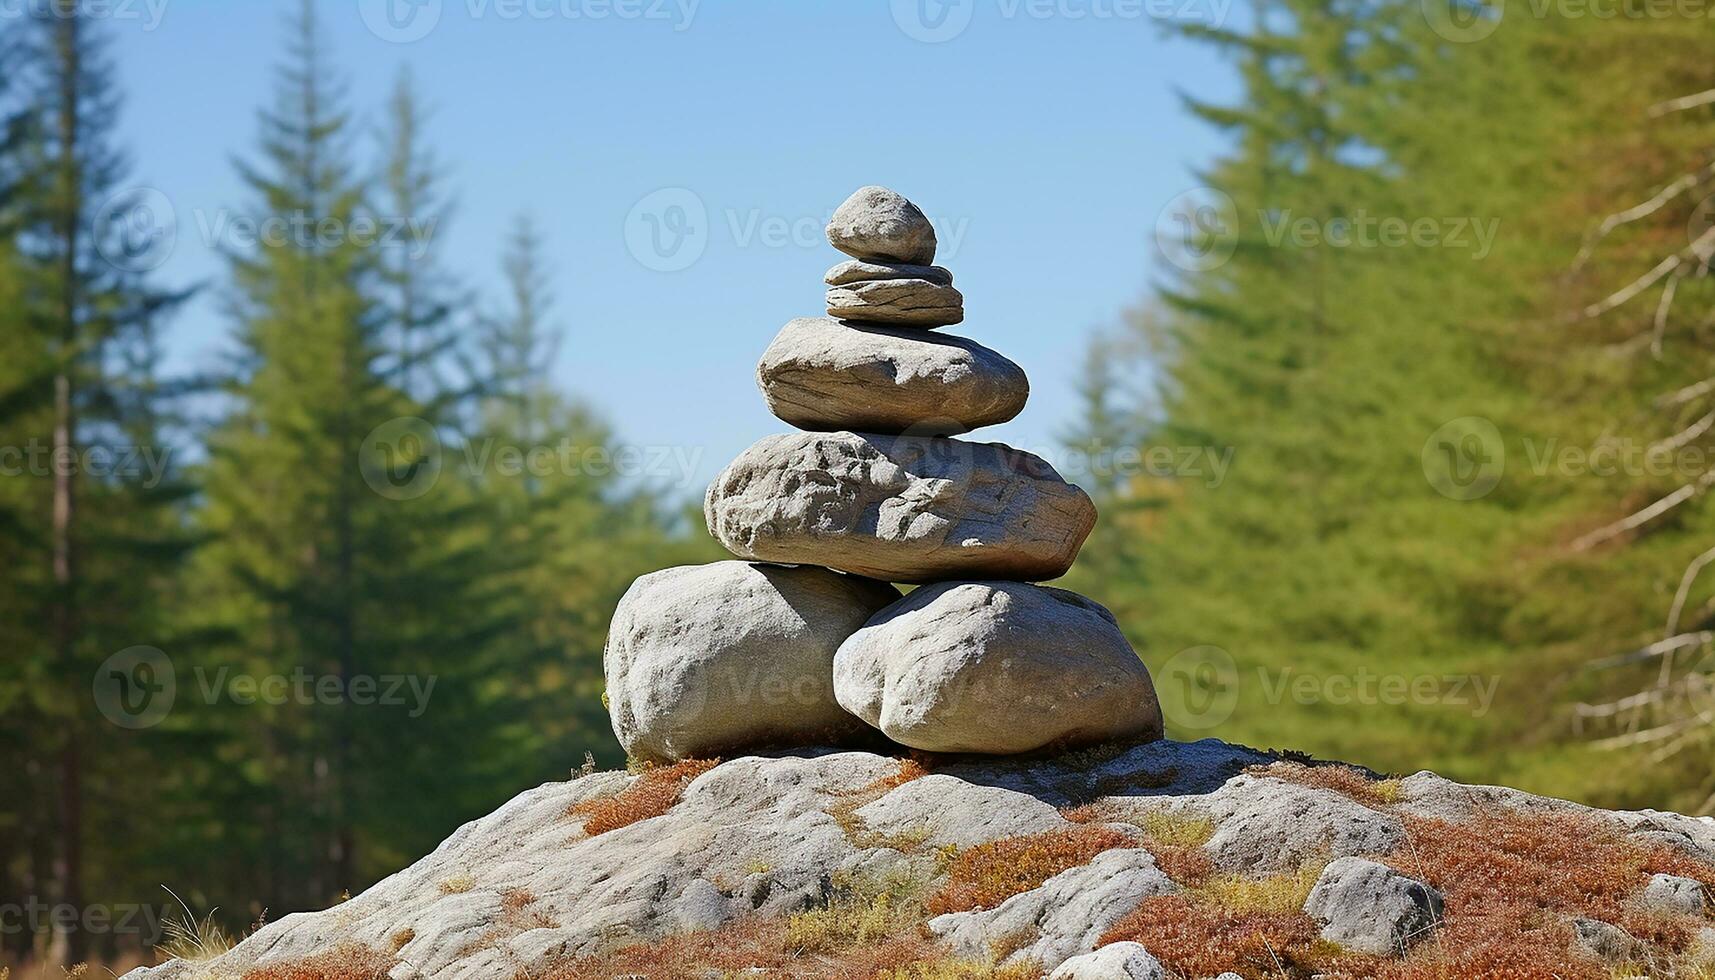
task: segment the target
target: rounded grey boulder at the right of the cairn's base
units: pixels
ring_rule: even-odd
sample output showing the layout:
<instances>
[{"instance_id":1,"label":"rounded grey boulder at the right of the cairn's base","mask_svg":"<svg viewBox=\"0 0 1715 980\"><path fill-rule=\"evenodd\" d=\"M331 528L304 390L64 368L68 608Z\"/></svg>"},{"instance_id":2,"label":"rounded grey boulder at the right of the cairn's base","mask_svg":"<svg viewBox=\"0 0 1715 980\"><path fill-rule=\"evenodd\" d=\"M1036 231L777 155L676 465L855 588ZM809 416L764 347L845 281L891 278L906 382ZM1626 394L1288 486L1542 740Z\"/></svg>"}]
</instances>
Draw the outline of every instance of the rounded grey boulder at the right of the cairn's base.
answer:
<instances>
[{"instance_id":1,"label":"rounded grey boulder at the right of the cairn's base","mask_svg":"<svg viewBox=\"0 0 1715 980\"><path fill-rule=\"evenodd\" d=\"M1161 736L1149 669L1113 614L1022 582L945 582L888 606L840 645L833 693L928 752Z\"/></svg>"}]
</instances>

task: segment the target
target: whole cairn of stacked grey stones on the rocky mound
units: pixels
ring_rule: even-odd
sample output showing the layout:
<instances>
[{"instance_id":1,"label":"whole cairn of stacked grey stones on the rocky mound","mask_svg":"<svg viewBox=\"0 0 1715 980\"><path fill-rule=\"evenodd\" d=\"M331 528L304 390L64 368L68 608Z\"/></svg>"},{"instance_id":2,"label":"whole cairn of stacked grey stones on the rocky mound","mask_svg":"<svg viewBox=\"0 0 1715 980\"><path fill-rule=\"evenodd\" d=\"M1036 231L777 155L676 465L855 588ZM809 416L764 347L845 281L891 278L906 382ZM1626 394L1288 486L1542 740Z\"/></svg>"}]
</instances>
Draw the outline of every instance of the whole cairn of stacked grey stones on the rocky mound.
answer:
<instances>
[{"instance_id":1,"label":"whole cairn of stacked grey stones on the rocky mound","mask_svg":"<svg viewBox=\"0 0 1715 980\"><path fill-rule=\"evenodd\" d=\"M935 228L863 187L828 223L851 256L825 318L785 324L756 381L796 434L708 487L741 561L669 568L621 599L604 671L633 759L859 747L1024 753L1161 736L1113 614L1058 578L1096 523L1048 462L954 436L1015 417L1017 364L933 328L964 319ZM900 596L894 584L921 585Z\"/></svg>"}]
</instances>

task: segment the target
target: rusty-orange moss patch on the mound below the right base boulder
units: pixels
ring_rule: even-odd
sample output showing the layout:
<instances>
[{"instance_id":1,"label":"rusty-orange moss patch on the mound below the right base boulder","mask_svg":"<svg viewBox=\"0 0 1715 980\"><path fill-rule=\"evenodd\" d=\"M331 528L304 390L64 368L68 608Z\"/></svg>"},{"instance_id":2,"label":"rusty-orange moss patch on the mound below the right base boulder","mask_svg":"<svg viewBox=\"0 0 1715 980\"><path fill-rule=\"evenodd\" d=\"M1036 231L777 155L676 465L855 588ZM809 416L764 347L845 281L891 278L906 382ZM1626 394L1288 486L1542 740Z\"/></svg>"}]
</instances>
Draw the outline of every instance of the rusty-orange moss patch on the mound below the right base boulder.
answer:
<instances>
[{"instance_id":1,"label":"rusty-orange moss patch on the mound below the right base boulder","mask_svg":"<svg viewBox=\"0 0 1715 980\"><path fill-rule=\"evenodd\" d=\"M978 844L952 860L947 884L930 899L930 915L995 908L1067 868L1087 865L1103 851L1134 844L1127 834L1106 827L1074 827Z\"/></svg>"}]
</instances>

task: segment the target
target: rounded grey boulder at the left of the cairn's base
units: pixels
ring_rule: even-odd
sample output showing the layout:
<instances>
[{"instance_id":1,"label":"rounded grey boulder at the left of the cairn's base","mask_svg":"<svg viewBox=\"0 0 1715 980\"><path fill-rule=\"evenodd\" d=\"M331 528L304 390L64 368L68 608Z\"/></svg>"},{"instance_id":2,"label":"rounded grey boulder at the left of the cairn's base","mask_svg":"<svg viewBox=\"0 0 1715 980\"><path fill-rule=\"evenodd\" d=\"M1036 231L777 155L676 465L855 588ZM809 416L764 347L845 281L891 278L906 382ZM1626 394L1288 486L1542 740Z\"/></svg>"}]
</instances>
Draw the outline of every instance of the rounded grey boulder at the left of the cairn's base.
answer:
<instances>
[{"instance_id":1,"label":"rounded grey boulder at the left of the cairn's base","mask_svg":"<svg viewBox=\"0 0 1715 980\"><path fill-rule=\"evenodd\" d=\"M602 666L607 711L645 760L863 731L833 699L833 652L899 592L823 568L746 561L645 575L619 601Z\"/></svg>"}]
</instances>

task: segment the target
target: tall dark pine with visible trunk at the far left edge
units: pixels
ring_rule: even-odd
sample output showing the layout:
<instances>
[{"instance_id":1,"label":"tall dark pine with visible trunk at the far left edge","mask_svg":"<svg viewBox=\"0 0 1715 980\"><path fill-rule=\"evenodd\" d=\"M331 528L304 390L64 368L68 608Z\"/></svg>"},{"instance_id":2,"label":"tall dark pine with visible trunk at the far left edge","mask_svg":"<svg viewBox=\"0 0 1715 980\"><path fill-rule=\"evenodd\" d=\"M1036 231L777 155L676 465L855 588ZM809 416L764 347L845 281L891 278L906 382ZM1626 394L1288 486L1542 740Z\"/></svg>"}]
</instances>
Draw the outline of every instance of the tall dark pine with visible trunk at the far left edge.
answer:
<instances>
[{"instance_id":1,"label":"tall dark pine with visible trunk at the far left edge","mask_svg":"<svg viewBox=\"0 0 1715 980\"><path fill-rule=\"evenodd\" d=\"M91 717L89 678L106 654L159 626L158 590L184 549L154 475L108 472L98 462L165 453L147 422L163 391L130 384L125 352L147 343L182 295L154 288L144 275L159 242L137 235L129 220L137 199L123 185L127 161L113 136L117 84L94 14L82 3L41 5L21 31L15 58L27 84L22 122L7 127L19 161L5 209L19 245L24 323L12 338L22 372L7 402L31 407L14 415L24 436L15 445L36 450L29 479L15 491L22 508L15 513L33 525L17 542L19 561L46 573L34 580L39 587L24 585L39 604L24 611L33 635L19 650L43 657L38 666L51 664L43 676L53 683L36 688L34 707L55 755L51 793L38 798L55 805L36 817L55 838L58 901L82 906L91 855L103 856L91 848L87 788L127 772L125 755L110 752L115 731ZM115 582L129 585L122 596L106 590ZM63 935L69 959L86 949L84 932Z\"/></svg>"}]
</instances>

